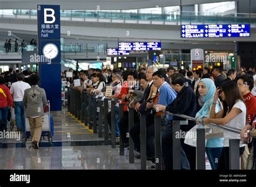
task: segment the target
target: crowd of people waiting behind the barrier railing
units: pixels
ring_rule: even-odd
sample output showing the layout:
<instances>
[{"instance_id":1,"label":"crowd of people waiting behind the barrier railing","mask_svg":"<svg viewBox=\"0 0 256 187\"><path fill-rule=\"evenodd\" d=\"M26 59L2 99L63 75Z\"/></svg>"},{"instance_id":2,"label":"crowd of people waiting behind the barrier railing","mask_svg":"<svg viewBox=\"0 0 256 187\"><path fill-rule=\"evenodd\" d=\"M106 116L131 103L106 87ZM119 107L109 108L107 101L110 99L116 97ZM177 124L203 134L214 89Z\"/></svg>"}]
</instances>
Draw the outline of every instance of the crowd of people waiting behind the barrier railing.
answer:
<instances>
[{"instance_id":1,"label":"crowd of people waiting behind the barrier railing","mask_svg":"<svg viewBox=\"0 0 256 187\"><path fill-rule=\"evenodd\" d=\"M105 97L106 86L112 87L112 96L118 100L115 106L116 138L122 137L124 147L129 147L130 134L134 142L134 156L140 158L140 115L146 115L147 159L154 167L154 115L162 115L165 111L185 114L196 118L188 125L181 126L181 131L188 132L196 124L214 123L239 128L241 134L224 131L224 137L208 139L206 154L212 169L228 169L229 139L241 139L240 156L245 149L252 149L256 132L256 75L255 69L224 71L220 67L212 70L197 69L157 69L142 68L139 71L89 69L74 71L72 77L62 73L62 80L70 82L79 79L80 86L75 87L81 93L90 91L98 98ZM119 121L119 103L124 106L124 116ZM134 126L129 130L129 109L134 108ZM110 111L107 114L111 124ZM169 116L161 120L161 146L163 168L173 168L172 158L172 121L184 120ZM111 126L110 126L111 129ZM245 135L246 134L246 135ZM196 169L196 148L181 141L181 168ZM249 142L245 144L244 141ZM246 168L246 163L242 167Z\"/></svg>"}]
</instances>

